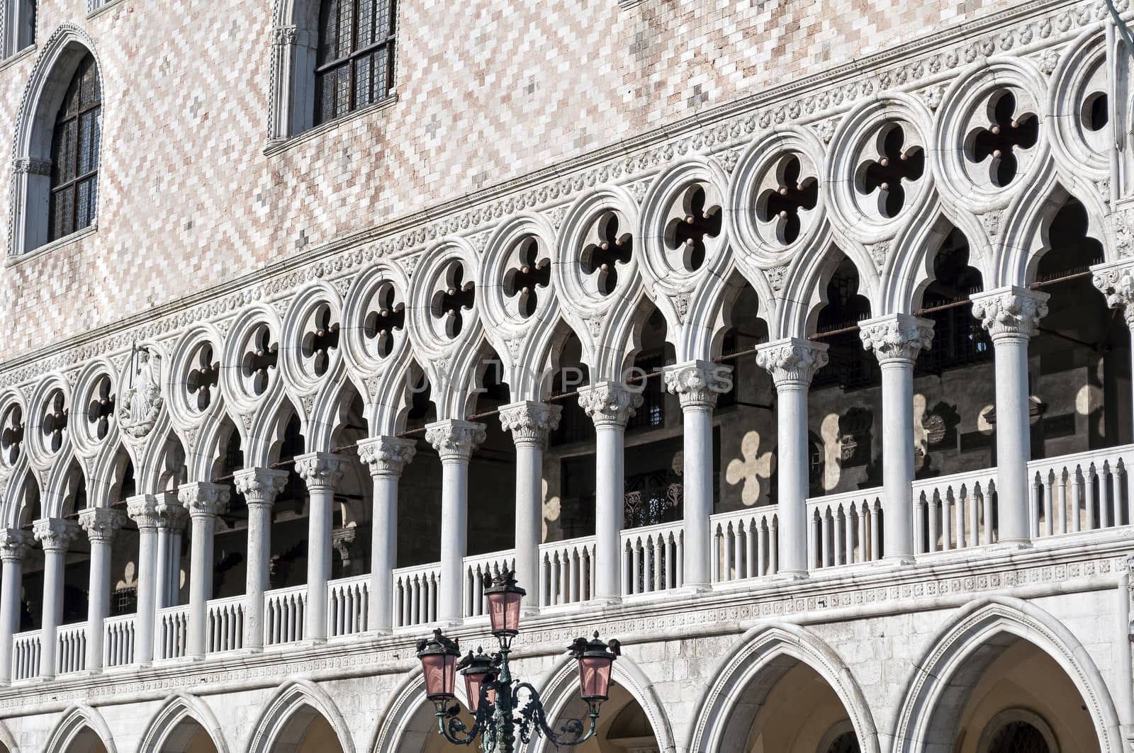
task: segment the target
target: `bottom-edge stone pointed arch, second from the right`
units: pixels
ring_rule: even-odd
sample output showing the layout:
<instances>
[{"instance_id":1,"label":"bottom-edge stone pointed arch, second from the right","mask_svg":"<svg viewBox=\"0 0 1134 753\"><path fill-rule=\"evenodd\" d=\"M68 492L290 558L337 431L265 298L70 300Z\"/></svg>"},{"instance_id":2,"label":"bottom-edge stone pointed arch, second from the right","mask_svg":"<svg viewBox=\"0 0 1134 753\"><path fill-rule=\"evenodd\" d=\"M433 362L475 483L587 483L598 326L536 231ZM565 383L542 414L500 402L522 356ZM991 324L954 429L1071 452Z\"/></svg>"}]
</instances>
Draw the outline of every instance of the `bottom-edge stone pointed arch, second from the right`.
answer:
<instances>
[{"instance_id":1,"label":"bottom-edge stone pointed arch, second from the right","mask_svg":"<svg viewBox=\"0 0 1134 753\"><path fill-rule=\"evenodd\" d=\"M830 685L850 717L862 750L879 753L874 719L850 668L814 633L788 623L765 623L754 627L725 653L697 703L689 753L736 750L726 747L728 734L736 731L734 722L744 716L734 713L734 710L753 702L761 703L788 666L795 662L806 665ZM747 721L751 724L751 719Z\"/></svg>"}]
</instances>

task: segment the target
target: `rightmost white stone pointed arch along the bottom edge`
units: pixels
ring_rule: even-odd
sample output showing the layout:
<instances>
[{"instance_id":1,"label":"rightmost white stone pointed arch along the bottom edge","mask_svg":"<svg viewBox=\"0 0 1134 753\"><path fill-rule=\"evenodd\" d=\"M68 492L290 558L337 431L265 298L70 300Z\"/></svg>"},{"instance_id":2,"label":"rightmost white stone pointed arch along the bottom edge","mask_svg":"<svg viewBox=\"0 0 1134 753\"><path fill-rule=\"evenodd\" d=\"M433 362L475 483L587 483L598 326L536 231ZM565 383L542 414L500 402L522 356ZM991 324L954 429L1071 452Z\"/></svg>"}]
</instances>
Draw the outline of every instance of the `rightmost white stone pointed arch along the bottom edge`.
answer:
<instances>
[{"instance_id":1,"label":"rightmost white stone pointed arch along the bottom edge","mask_svg":"<svg viewBox=\"0 0 1134 753\"><path fill-rule=\"evenodd\" d=\"M1067 674L1094 722L1102 753L1123 750L1118 712L1106 680L1078 638L1050 612L1021 599L990 597L973 601L937 632L916 663L894 729L895 753L926 750L939 735L942 708L963 705L965 688L954 680L966 668L979 674L999 653L996 641L1007 636L1032 643ZM1002 646L1001 646L1002 648ZM932 742L939 742L933 739Z\"/></svg>"}]
</instances>

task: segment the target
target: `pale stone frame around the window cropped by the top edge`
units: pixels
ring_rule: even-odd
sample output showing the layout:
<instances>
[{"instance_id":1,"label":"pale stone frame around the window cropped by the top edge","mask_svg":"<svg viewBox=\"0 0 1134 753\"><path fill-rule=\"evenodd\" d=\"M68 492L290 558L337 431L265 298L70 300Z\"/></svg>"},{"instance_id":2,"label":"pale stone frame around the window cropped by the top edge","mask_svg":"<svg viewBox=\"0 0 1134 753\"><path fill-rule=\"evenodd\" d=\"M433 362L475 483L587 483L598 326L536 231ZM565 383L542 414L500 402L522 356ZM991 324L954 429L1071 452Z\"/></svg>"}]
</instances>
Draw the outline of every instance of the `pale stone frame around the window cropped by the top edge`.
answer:
<instances>
[{"instance_id":1,"label":"pale stone frame around the window cropped by the top edge","mask_svg":"<svg viewBox=\"0 0 1134 753\"><path fill-rule=\"evenodd\" d=\"M389 88L384 98L355 109L349 113L320 124L330 127L344 117L350 117L397 99L398 14L400 5L390 0L391 27L389 34ZM319 65L319 20L321 0L279 0L272 28L271 111L268 121L270 144L285 142L315 127L316 86L315 69Z\"/></svg>"}]
</instances>

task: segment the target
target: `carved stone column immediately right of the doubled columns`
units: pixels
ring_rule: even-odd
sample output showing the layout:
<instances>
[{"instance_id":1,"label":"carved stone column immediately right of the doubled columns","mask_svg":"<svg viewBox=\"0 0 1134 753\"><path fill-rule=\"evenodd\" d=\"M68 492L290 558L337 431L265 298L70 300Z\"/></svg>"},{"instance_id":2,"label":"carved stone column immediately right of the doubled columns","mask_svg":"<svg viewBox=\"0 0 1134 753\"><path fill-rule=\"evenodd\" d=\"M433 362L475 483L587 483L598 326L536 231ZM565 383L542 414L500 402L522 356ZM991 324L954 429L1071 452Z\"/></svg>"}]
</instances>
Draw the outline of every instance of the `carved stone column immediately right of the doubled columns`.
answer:
<instances>
[{"instance_id":1,"label":"carved stone column immediately right of the doubled columns","mask_svg":"<svg viewBox=\"0 0 1134 753\"><path fill-rule=\"evenodd\" d=\"M178 499L193 521L193 550L189 556L189 634L186 654L205 655L209 635L209 600L212 599L213 534L217 516L228 509L228 487L194 482L178 489Z\"/></svg>"}]
</instances>

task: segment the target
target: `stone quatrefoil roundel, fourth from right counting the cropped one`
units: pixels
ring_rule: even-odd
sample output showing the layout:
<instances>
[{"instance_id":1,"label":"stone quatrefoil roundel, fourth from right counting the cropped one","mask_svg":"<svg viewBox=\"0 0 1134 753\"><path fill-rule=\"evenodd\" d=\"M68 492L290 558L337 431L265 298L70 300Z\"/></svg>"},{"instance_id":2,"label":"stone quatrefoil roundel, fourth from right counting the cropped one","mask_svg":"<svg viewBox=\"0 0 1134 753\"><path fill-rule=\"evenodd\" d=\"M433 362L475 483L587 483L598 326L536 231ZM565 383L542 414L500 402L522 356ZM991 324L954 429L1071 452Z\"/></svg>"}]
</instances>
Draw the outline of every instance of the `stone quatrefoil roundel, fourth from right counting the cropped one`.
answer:
<instances>
[{"instance_id":1,"label":"stone quatrefoil roundel, fourth from right counting the cropped one","mask_svg":"<svg viewBox=\"0 0 1134 753\"><path fill-rule=\"evenodd\" d=\"M734 171L731 232L746 253L775 261L804 245L823 217L823 147L804 129L755 142Z\"/></svg>"}]
</instances>

